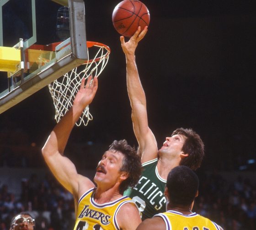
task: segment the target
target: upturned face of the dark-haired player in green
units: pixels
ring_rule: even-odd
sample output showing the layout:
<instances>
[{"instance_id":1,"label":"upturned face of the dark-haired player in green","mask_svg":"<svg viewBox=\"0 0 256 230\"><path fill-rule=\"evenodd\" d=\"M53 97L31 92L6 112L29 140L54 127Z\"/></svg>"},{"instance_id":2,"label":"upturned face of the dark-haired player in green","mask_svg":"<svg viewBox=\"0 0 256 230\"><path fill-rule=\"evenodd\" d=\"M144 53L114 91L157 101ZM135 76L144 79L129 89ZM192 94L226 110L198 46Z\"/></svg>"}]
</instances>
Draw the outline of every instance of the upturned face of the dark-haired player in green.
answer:
<instances>
[{"instance_id":1,"label":"upturned face of the dark-haired player in green","mask_svg":"<svg viewBox=\"0 0 256 230\"><path fill-rule=\"evenodd\" d=\"M186 138L183 135L176 134L171 137L165 138L163 146L159 149L159 153L168 154L171 156L178 156L182 152L182 147Z\"/></svg>"}]
</instances>

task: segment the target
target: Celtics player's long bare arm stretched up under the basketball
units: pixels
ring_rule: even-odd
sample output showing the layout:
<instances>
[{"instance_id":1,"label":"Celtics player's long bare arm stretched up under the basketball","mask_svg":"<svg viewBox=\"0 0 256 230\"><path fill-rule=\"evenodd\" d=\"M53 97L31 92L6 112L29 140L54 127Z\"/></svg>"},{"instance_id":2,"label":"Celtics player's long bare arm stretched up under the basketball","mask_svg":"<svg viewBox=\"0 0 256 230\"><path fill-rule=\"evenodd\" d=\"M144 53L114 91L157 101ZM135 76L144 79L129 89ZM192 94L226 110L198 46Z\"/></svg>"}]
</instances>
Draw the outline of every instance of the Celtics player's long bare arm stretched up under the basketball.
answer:
<instances>
[{"instance_id":1,"label":"Celtics player's long bare arm stretched up under the basketball","mask_svg":"<svg viewBox=\"0 0 256 230\"><path fill-rule=\"evenodd\" d=\"M157 157L157 143L155 136L148 126L146 97L139 79L139 72L135 61L135 50L140 40L147 33L147 26L141 31L139 27L128 42L121 36L121 46L126 57L127 89L132 107L133 130L139 143L141 162Z\"/></svg>"}]
</instances>

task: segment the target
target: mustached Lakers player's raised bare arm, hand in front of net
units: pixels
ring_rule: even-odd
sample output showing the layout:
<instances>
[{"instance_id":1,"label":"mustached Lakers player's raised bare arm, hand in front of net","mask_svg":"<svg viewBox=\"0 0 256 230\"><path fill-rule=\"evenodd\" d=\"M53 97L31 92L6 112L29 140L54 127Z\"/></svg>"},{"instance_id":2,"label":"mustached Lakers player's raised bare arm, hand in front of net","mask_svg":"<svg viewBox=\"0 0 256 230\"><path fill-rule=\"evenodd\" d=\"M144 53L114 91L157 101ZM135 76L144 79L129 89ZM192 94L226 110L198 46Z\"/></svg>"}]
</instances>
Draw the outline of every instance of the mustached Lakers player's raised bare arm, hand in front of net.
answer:
<instances>
[{"instance_id":1,"label":"mustached Lakers player's raised bare arm, hand in front of net","mask_svg":"<svg viewBox=\"0 0 256 230\"><path fill-rule=\"evenodd\" d=\"M88 189L94 187L94 184L89 179L77 174L75 165L63 154L71 130L85 107L92 102L97 86L98 80L96 77L92 82L91 77L89 77L86 85L85 79L82 80L73 106L54 127L42 149L43 157L48 167L56 179L74 195L75 199L78 198L81 181L83 181L83 186L87 186Z\"/></svg>"}]
</instances>

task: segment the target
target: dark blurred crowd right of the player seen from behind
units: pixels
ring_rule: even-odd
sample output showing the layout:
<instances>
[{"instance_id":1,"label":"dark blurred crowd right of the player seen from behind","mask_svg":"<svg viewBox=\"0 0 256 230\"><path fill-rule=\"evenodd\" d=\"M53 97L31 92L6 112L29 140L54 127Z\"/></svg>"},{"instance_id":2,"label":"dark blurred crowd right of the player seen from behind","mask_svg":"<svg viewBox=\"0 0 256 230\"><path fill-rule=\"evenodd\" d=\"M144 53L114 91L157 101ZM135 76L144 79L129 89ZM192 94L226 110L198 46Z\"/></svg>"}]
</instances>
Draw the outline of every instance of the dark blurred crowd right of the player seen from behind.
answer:
<instances>
[{"instance_id":1,"label":"dark blurred crowd right of the player seen from behind","mask_svg":"<svg viewBox=\"0 0 256 230\"><path fill-rule=\"evenodd\" d=\"M200 177L193 211L215 221L224 230L256 229L256 184L238 176L229 183L213 172Z\"/></svg>"}]
</instances>

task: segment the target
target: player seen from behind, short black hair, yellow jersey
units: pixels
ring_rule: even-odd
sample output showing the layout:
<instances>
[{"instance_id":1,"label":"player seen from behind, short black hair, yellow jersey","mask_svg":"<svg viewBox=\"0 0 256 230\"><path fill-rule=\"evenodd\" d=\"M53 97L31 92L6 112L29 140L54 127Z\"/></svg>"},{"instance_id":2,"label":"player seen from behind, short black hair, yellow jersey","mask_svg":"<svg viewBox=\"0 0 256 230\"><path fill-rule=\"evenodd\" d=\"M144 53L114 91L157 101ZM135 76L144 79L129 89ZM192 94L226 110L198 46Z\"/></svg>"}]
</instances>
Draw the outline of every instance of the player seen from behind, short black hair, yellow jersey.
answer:
<instances>
[{"instance_id":1,"label":"player seen from behind, short black hair, yellow jersey","mask_svg":"<svg viewBox=\"0 0 256 230\"><path fill-rule=\"evenodd\" d=\"M167 177L166 212L144 220L137 230L223 230L213 221L192 212L199 180L187 166L173 168Z\"/></svg>"}]
</instances>

